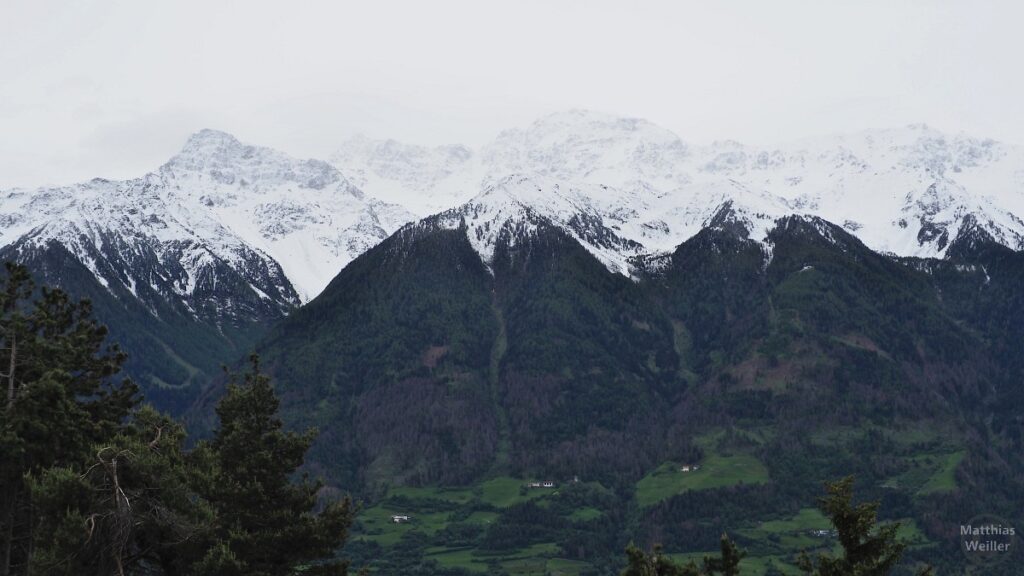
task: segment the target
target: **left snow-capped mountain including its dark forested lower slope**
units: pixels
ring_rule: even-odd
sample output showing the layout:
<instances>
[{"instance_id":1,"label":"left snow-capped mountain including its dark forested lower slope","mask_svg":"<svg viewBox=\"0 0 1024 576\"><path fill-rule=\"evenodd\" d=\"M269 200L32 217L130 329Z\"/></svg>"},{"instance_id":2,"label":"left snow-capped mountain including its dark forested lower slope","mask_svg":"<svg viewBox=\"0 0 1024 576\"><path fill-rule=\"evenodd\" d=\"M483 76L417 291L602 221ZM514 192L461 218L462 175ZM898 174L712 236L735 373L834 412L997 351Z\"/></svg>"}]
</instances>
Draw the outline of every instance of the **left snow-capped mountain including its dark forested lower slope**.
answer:
<instances>
[{"instance_id":1,"label":"left snow-capped mountain including its dark forested lower slope","mask_svg":"<svg viewBox=\"0 0 1024 576\"><path fill-rule=\"evenodd\" d=\"M139 178L0 193L0 251L90 297L167 407L411 217L325 162L203 130Z\"/></svg>"}]
</instances>

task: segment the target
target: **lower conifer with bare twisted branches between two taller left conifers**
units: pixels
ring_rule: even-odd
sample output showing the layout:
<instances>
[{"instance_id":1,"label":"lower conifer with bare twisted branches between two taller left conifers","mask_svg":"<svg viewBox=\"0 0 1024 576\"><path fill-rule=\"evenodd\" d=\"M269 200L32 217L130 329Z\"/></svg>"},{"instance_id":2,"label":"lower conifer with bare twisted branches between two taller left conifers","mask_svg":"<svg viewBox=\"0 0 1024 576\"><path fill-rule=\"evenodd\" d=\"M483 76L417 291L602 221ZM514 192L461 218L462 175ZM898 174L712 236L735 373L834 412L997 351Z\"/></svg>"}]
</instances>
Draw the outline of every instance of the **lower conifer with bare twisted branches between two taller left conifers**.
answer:
<instances>
[{"instance_id":1,"label":"lower conifer with bare twisted branches between two taller left conifers","mask_svg":"<svg viewBox=\"0 0 1024 576\"><path fill-rule=\"evenodd\" d=\"M150 407L132 415L91 463L29 481L40 512L35 574L182 574L213 515L188 489L184 428Z\"/></svg>"}]
</instances>

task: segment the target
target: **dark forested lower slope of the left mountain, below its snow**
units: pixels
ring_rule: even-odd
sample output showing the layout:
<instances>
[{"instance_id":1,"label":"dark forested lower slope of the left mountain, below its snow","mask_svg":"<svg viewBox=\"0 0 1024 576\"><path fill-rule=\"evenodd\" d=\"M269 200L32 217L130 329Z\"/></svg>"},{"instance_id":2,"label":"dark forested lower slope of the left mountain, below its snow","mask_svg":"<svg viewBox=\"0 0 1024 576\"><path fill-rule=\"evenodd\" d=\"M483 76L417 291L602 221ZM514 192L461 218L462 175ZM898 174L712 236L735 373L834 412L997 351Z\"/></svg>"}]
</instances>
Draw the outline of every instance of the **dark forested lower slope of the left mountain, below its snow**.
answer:
<instances>
[{"instance_id":1,"label":"dark forested lower slope of the left mountain, below its snow","mask_svg":"<svg viewBox=\"0 0 1024 576\"><path fill-rule=\"evenodd\" d=\"M155 265L157 256L144 244L124 246L117 238L104 241L110 253L92 254L104 274L116 277L119 268L152 270ZM174 416L187 410L203 386L220 375L224 363L245 358L266 329L288 312L254 301L255 295L242 289L248 286L245 279L228 270L219 271L219 289L233 291L239 304L238 314L224 320L215 303L197 303L196 310L189 310L165 297L173 294L169 284L179 279L166 279L164 285L135 286L133 292L117 283L104 286L57 242L6 246L0 249L0 261L6 260L29 266L40 285L58 286L77 298L87 298L111 338L131 352L123 365L125 374L151 403ZM208 292L208 288L199 289L195 299L202 302Z\"/></svg>"}]
</instances>

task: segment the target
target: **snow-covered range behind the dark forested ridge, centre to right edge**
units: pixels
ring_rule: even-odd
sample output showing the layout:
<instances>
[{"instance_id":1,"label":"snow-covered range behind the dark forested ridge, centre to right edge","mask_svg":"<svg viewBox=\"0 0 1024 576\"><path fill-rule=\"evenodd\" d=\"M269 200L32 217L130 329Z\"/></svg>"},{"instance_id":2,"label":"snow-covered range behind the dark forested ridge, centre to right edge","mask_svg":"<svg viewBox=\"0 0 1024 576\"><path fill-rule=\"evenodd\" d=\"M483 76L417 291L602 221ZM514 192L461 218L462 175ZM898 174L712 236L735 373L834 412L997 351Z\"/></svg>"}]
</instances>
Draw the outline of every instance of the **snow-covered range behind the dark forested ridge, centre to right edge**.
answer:
<instances>
[{"instance_id":1,"label":"snow-covered range behind the dark forested ridge, centre to right edge","mask_svg":"<svg viewBox=\"0 0 1024 576\"><path fill-rule=\"evenodd\" d=\"M503 225L543 215L629 274L631 256L671 251L726 205L760 242L797 214L901 256L942 257L968 223L1024 248L1024 150L921 125L774 148L693 146L644 120L570 111L478 151L360 137L333 162L420 215L459 206L447 220L468 216L484 259Z\"/></svg>"}]
</instances>

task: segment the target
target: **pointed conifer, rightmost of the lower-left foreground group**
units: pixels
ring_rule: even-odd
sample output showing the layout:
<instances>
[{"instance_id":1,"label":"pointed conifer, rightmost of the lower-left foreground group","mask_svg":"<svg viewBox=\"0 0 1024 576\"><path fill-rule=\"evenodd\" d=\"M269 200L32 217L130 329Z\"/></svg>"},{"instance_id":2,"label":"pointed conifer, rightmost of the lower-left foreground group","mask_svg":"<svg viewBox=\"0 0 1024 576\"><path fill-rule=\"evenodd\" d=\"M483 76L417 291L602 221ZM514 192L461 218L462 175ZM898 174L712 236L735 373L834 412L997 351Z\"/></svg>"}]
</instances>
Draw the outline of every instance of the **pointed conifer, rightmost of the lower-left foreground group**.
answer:
<instances>
[{"instance_id":1,"label":"pointed conifer, rightmost of the lower-left foreground group","mask_svg":"<svg viewBox=\"0 0 1024 576\"><path fill-rule=\"evenodd\" d=\"M242 382L231 377L217 406L220 426L195 455L206 469L200 486L216 515L212 544L196 573L230 576L303 574L342 576L347 564L335 559L351 524L346 498L319 513L319 482L292 477L302 464L315 430L287 431L278 417L280 401L259 359Z\"/></svg>"}]
</instances>

